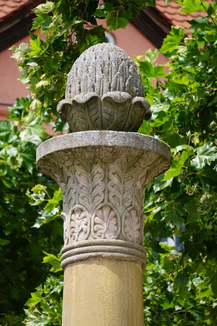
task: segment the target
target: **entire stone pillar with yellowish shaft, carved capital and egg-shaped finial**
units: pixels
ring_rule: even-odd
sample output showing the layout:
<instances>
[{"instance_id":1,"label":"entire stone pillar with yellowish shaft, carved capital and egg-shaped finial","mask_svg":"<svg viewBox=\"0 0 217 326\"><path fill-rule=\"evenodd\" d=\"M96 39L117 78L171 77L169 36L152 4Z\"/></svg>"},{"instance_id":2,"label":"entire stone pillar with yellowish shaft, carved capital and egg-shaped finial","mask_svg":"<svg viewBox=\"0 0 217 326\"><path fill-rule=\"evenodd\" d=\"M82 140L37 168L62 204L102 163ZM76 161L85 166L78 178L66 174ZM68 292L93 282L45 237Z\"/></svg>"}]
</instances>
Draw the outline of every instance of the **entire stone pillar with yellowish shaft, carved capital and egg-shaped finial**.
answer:
<instances>
[{"instance_id":1,"label":"entire stone pillar with yellowish shaft, carved capital and egg-shaped finial","mask_svg":"<svg viewBox=\"0 0 217 326\"><path fill-rule=\"evenodd\" d=\"M38 168L63 198L63 326L143 326L143 202L170 167L162 141L136 133L151 118L141 76L112 44L73 65L57 108L71 134L37 148Z\"/></svg>"}]
</instances>

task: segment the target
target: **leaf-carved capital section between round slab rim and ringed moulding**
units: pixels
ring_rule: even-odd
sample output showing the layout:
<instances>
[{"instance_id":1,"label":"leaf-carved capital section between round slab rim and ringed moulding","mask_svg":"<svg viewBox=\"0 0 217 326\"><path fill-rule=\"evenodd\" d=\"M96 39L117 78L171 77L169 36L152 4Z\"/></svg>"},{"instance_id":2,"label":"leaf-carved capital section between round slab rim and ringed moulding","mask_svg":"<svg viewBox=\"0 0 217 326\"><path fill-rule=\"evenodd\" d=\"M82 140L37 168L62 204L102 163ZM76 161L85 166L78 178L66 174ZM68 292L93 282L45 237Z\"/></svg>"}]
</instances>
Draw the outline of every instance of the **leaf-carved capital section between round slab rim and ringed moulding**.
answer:
<instances>
[{"instance_id":1,"label":"leaf-carved capital section between round slab rim and ringed moulding","mask_svg":"<svg viewBox=\"0 0 217 326\"><path fill-rule=\"evenodd\" d=\"M62 188L64 245L94 238L142 243L145 187L163 161L141 149L106 146L42 158L39 169Z\"/></svg>"}]
</instances>

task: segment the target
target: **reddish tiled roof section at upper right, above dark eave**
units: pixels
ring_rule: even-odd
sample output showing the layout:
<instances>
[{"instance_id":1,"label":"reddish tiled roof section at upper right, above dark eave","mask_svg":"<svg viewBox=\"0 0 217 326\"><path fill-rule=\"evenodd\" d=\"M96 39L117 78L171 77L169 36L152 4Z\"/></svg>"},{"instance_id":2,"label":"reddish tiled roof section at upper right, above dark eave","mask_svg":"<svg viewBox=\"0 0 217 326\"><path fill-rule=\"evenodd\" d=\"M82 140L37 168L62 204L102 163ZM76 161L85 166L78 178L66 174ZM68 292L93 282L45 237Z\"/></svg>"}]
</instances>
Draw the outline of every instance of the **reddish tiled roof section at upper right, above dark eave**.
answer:
<instances>
[{"instance_id":1,"label":"reddish tiled roof section at upper right, above dark eave","mask_svg":"<svg viewBox=\"0 0 217 326\"><path fill-rule=\"evenodd\" d=\"M212 0L205 0L208 3L213 3ZM166 20L171 25L180 25L185 29L190 27L190 24L186 21L192 20L193 18L204 17L206 13L204 11L193 12L192 14L186 14L184 12L179 12L182 6L171 0L170 2L165 2L164 0L156 0L155 8L159 11L160 15L166 18ZM186 35L189 36L190 32L187 30Z\"/></svg>"}]
</instances>

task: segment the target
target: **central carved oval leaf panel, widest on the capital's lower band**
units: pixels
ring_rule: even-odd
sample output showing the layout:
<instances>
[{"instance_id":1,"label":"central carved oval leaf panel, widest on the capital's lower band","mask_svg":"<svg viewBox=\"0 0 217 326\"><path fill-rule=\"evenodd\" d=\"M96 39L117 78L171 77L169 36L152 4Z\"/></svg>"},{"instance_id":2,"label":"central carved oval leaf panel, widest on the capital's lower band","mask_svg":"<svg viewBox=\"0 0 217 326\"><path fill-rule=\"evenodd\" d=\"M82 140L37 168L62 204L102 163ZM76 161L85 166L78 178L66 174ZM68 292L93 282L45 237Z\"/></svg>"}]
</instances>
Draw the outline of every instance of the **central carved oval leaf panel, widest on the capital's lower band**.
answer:
<instances>
[{"instance_id":1,"label":"central carved oval leaf panel, widest on the capital's lower band","mask_svg":"<svg viewBox=\"0 0 217 326\"><path fill-rule=\"evenodd\" d=\"M110 203L103 203L96 208L91 223L94 238L116 239L120 234L120 216Z\"/></svg>"}]
</instances>

